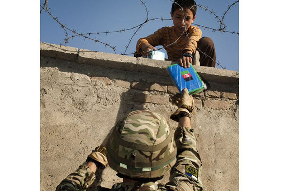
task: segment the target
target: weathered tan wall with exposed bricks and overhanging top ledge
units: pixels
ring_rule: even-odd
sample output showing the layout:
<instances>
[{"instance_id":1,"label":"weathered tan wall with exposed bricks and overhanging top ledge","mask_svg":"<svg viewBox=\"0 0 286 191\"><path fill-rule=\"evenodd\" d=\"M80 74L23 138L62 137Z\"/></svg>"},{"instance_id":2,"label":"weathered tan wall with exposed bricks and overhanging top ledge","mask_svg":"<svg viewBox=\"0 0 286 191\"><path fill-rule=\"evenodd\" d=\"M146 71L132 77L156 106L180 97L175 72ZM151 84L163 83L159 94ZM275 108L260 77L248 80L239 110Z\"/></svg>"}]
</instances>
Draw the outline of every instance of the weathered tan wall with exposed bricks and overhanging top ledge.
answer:
<instances>
[{"instance_id":1,"label":"weathered tan wall with exposed bricks and overhanging top ledge","mask_svg":"<svg viewBox=\"0 0 286 191\"><path fill-rule=\"evenodd\" d=\"M55 190L131 110L160 113L175 130L170 64L41 42L41 191ZM194 96L191 121L204 190L238 190L238 72L195 69L210 85ZM122 181L115 174L109 167L97 172L91 188Z\"/></svg>"}]
</instances>

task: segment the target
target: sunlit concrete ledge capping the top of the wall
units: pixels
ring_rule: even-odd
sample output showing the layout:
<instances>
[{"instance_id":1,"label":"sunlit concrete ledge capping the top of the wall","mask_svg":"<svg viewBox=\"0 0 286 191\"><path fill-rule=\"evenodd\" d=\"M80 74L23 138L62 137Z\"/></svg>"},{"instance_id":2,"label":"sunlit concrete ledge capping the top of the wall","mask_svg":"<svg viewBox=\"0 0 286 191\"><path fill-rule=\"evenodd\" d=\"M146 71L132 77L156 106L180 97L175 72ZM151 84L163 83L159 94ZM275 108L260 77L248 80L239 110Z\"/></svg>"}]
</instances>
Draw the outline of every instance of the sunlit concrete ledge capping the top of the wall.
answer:
<instances>
[{"instance_id":1,"label":"sunlit concrete ledge capping the top of the wall","mask_svg":"<svg viewBox=\"0 0 286 191\"><path fill-rule=\"evenodd\" d=\"M51 58L60 58L63 60L77 62L78 64L91 64L100 67L109 67L128 71L141 71L162 76L168 76L166 67L176 63L149 58L135 58L87 49L78 50L76 47L60 46L46 42L40 42L40 54ZM193 67L197 73L207 81L224 84L238 84L239 82L238 71L205 66Z\"/></svg>"}]
</instances>

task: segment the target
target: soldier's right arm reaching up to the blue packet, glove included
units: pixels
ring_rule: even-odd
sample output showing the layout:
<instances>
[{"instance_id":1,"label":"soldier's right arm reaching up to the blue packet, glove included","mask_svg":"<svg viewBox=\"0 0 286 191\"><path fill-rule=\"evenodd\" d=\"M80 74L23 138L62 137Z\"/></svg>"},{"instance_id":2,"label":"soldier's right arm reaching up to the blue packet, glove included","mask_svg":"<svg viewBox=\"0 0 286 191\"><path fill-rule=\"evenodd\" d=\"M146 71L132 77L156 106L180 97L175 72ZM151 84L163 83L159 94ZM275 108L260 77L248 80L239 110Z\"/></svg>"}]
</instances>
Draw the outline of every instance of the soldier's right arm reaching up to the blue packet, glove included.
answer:
<instances>
[{"instance_id":1,"label":"soldier's right arm reaching up to the blue packet, glove included","mask_svg":"<svg viewBox=\"0 0 286 191\"><path fill-rule=\"evenodd\" d=\"M177 161L171 169L170 182L166 186L177 190L202 190L201 166L202 162L196 146L194 130L191 129L191 113L193 112L193 97L187 89L182 95L174 96L173 102L179 107L171 115L171 119L178 121L178 128L174 137L177 146Z\"/></svg>"}]
</instances>

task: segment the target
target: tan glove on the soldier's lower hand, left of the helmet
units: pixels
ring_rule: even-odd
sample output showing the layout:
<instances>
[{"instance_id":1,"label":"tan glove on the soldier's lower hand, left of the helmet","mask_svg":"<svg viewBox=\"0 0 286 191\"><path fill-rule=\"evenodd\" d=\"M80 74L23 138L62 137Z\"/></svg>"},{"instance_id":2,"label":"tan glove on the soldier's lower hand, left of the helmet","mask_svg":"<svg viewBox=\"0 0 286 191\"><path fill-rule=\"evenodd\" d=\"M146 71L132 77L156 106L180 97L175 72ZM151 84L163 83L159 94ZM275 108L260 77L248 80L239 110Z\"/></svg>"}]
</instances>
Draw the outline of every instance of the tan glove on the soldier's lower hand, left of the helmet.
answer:
<instances>
[{"instance_id":1,"label":"tan glove on the soldier's lower hand, left of the helmet","mask_svg":"<svg viewBox=\"0 0 286 191\"><path fill-rule=\"evenodd\" d=\"M98 168L105 168L108 164L105 152L106 148L104 146L96 147L92 153L88 155L86 162L92 161Z\"/></svg>"}]
</instances>

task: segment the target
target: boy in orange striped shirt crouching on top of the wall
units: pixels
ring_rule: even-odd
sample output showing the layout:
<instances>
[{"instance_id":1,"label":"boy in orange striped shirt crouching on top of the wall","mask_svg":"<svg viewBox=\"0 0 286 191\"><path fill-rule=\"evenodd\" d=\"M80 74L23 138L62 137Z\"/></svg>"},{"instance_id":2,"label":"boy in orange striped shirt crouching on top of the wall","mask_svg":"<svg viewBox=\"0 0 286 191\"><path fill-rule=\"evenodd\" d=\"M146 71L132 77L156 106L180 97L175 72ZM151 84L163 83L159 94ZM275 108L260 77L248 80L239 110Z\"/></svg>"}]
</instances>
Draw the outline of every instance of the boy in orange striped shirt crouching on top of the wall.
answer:
<instances>
[{"instance_id":1,"label":"boy in orange striped shirt crouching on top of the wall","mask_svg":"<svg viewBox=\"0 0 286 191\"><path fill-rule=\"evenodd\" d=\"M196 18L195 5L193 0L174 0L171 10L174 26L162 27L154 34L140 38L136 44L135 56L141 56L138 53L143 53L145 56L146 52L156 50L156 46L162 45L167 51L169 60L177 61L186 68L190 67L189 63L192 64L192 58L198 48L200 66L215 67L215 46L212 39L201 38L200 28L191 25Z\"/></svg>"}]
</instances>

